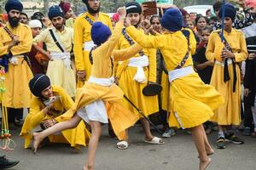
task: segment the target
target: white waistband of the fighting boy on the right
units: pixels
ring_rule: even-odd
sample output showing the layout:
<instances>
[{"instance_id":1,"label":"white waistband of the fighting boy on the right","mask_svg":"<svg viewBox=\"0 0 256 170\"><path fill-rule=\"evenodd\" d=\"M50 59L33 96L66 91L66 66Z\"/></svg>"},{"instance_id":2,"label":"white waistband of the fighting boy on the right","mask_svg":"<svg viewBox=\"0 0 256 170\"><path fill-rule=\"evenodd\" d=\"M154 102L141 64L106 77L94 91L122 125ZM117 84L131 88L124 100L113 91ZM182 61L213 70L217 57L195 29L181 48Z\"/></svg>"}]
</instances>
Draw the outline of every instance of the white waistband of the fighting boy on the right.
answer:
<instances>
[{"instance_id":1,"label":"white waistband of the fighting boy on the right","mask_svg":"<svg viewBox=\"0 0 256 170\"><path fill-rule=\"evenodd\" d=\"M177 78L188 76L189 74L192 74L194 72L195 71L192 66L168 71L169 82L172 82L172 81L176 80Z\"/></svg>"}]
</instances>

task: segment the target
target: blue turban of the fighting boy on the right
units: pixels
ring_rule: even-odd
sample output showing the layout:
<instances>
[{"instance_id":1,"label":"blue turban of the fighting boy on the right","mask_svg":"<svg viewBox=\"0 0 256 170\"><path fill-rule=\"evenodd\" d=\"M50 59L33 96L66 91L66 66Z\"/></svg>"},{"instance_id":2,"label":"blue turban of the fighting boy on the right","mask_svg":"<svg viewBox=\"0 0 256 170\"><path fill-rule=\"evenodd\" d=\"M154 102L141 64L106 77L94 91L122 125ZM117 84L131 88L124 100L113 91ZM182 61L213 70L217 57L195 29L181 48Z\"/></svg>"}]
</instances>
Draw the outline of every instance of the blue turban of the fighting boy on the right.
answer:
<instances>
[{"instance_id":1,"label":"blue turban of the fighting boy on the right","mask_svg":"<svg viewBox=\"0 0 256 170\"><path fill-rule=\"evenodd\" d=\"M161 25L169 31L180 31L183 28L183 15L178 8L169 8L161 19Z\"/></svg>"}]
</instances>

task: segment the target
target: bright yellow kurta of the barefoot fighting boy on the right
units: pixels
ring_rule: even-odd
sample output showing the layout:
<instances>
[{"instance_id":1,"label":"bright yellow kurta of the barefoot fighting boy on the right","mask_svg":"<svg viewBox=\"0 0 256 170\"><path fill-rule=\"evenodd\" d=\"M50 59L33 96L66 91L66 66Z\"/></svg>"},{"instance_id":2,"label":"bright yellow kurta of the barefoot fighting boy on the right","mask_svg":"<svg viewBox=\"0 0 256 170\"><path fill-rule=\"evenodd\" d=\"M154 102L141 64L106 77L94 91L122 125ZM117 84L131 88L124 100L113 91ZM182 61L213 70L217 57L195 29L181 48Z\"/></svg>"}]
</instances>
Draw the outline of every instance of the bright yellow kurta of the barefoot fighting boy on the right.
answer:
<instances>
[{"instance_id":1,"label":"bright yellow kurta of the barefoot fighting boy on the right","mask_svg":"<svg viewBox=\"0 0 256 170\"><path fill-rule=\"evenodd\" d=\"M168 71L174 70L187 53L187 39L182 31L166 32L152 37L137 31L134 26L129 26L126 30L143 48L159 48ZM193 65L191 54L195 53L196 42L193 32L189 32L190 54L183 67ZM171 127L189 128L201 125L213 116L213 111L219 105L224 103L222 96L212 86L204 84L195 72L172 81L170 94Z\"/></svg>"}]
</instances>

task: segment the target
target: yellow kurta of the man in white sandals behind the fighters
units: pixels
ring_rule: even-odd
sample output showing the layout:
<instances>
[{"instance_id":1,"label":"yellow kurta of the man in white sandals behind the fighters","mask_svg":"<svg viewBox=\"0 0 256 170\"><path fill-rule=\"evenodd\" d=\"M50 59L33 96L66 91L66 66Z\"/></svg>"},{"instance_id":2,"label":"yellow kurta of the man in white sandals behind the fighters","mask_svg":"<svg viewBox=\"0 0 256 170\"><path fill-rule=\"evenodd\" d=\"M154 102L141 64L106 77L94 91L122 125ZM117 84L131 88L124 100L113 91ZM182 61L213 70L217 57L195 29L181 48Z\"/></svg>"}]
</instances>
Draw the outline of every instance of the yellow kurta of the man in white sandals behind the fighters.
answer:
<instances>
[{"instance_id":1,"label":"yellow kurta of the man in white sandals behind the fighters","mask_svg":"<svg viewBox=\"0 0 256 170\"><path fill-rule=\"evenodd\" d=\"M119 39L118 48L125 49L129 47L131 47L130 43L122 35ZM138 52L139 51L137 51L137 53ZM148 56L149 61L149 65L143 68L147 82L140 83L133 80L133 77L137 73L137 67L128 66L129 59L117 66L116 77L119 79L119 87L122 89L125 96L130 99L138 109L143 111L145 116L149 116L159 111L158 96L143 95L143 88L148 85L148 82L156 82L156 49L143 48L143 52L144 55ZM133 57L139 56L139 54L136 54ZM137 113L137 110L126 99L124 99L123 103L127 109Z\"/></svg>"}]
</instances>

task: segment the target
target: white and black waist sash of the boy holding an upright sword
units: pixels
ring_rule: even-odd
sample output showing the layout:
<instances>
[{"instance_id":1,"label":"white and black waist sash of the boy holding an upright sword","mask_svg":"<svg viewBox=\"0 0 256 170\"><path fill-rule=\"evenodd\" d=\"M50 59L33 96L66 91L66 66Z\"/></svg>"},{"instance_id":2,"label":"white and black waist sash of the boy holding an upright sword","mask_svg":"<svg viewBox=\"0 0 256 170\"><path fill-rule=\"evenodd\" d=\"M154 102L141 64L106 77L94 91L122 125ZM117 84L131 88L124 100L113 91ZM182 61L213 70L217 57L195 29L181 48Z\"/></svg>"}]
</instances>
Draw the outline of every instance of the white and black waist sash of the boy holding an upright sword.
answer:
<instances>
[{"instance_id":1,"label":"white and black waist sash of the boy holding an upright sword","mask_svg":"<svg viewBox=\"0 0 256 170\"><path fill-rule=\"evenodd\" d=\"M233 92L236 92L236 81L237 81L237 75L236 75L236 63L233 59L224 59L223 62L219 62L218 60L215 60L216 65L221 65L224 67L224 82L228 82L230 80L230 72L229 72L229 65L233 65L233 71L234 71L234 81L233 81Z\"/></svg>"}]
</instances>

